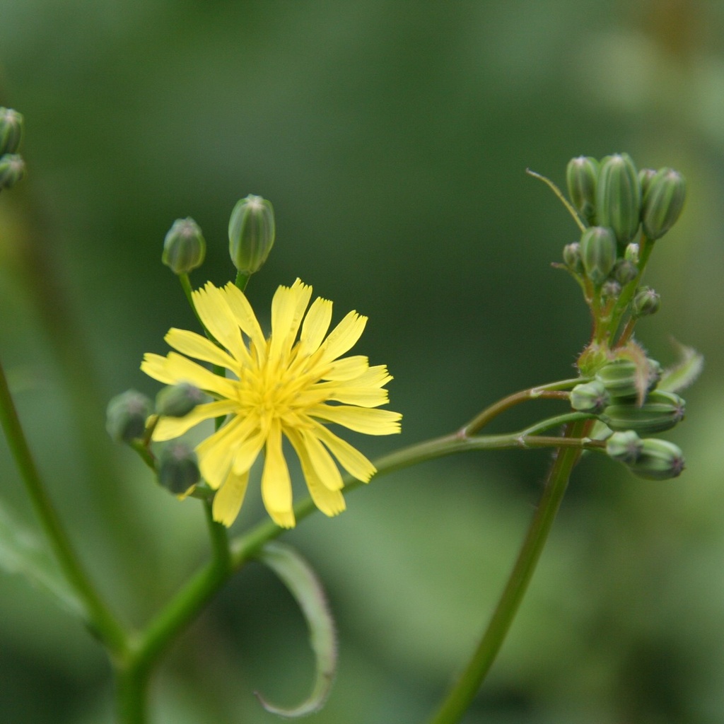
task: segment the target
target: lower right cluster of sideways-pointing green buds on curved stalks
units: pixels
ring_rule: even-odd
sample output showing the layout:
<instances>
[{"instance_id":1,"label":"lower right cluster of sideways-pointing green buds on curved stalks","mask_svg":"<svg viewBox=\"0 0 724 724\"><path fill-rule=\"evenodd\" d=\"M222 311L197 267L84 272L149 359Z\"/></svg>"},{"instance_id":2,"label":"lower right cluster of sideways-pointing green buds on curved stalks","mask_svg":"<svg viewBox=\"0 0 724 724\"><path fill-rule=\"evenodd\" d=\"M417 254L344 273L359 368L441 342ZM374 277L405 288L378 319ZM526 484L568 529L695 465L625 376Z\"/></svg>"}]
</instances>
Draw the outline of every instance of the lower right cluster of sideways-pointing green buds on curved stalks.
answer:
<instances>
[{"instance_id":1,"label":"lower right cluster of sideways-pointing green buds on curved stalks","mask_svg":"<svg viewBox=\"0 0 724 724\"><path fill-rule=\"evenodd\" d=\"M606 452L635 475L663 480L683 470L681 450L671 442L643 435L673 428L683 419L686 403L673 392L657 390L661 366L651 359L610 362L590 382L571 390L571 407L591 413L605 425Z\"/></svg>"}]
</instances>

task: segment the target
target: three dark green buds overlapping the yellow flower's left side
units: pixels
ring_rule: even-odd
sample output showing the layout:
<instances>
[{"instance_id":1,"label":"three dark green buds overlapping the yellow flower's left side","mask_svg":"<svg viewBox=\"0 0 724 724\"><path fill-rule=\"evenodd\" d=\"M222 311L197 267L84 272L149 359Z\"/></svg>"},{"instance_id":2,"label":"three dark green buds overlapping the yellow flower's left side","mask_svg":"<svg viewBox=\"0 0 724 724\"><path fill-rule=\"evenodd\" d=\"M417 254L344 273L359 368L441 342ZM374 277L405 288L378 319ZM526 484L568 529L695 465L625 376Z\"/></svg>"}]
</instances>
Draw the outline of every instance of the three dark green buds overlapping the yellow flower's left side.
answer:
<instances>
[{"instance_id":1,"label":"three dark green buds overlapping the yellow flower's left side","mask_svg":"<svg viewBox=\"0 0 724 724\"><path fill-rule=\"evenodd\" d=\"M161 389L155 405L141 392L127 390L108 403L106 429L116 442L143 446L160 417L183 417L205 399L198 387L185 382ZM185 442L169 442L157 460L151 459L159 483L175 495L188 494L201 479L196 453Z\"/></svg>"}]
</instances>

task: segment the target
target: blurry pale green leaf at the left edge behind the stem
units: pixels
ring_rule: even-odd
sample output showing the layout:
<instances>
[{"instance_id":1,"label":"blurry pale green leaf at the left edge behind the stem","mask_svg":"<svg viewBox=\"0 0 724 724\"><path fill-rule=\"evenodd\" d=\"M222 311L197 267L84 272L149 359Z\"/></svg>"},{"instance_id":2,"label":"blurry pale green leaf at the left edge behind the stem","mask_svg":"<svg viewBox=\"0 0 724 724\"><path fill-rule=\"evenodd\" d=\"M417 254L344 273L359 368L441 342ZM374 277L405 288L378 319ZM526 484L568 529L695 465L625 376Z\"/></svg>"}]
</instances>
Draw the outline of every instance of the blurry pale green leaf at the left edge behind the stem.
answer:
<instances>
[{"instance_id":1,"label":"blurry pale green leaf at the left edge behind the stem","mask_svg":"<svg viewBox=\"0 0 724 724\"><path fill-rule=\"evenodd\" d=\"M32 531L17 522L17 515L0 502L0 569L19 573L61 607L83 616L83 605L75 597L47 550Z\"/></svg>"}]
</instances>

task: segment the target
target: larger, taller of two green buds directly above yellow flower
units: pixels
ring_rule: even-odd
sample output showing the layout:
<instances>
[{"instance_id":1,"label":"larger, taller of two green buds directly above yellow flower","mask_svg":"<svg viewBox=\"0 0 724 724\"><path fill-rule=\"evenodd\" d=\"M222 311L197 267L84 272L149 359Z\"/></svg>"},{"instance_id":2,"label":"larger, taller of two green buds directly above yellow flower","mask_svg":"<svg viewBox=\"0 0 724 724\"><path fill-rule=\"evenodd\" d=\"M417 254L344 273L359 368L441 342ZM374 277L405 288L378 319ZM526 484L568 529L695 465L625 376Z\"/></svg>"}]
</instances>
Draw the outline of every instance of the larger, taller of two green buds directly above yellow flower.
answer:
<instances>
[{"instance_id":1,"label":"larger, taller of two green buds directly above yellow flower","mask_svg":"<svg viewBox=\"0 0 724 724\"><path fill-rule=\"evenodd\" d=\"M229 253L240 274L253 274L274 245L274 209L261 196L237 201L229 219Z\"/></svg>"}]
</instances>

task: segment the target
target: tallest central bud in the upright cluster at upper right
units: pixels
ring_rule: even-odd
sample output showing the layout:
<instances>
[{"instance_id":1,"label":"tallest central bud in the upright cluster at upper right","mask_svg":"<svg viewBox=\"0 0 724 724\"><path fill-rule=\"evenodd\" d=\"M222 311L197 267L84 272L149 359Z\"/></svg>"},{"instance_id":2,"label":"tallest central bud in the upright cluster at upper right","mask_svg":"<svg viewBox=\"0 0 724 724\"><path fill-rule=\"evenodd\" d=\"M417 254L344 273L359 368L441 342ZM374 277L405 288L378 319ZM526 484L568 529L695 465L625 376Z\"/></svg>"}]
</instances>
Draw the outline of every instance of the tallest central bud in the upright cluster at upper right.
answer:
<instances>
[{"instance_id":1,"label":"tallest central bud in the upright cluster at upper right","mask_svg":"<svg viewBox=\"0 0 724 724\"><path fill-rule=\"evenodd\" d=\"M623 247L639 229L641 185L628 153L616 153L601 161L596 187L597 222L610 227Z\"/></svg>"}]
</instances>

